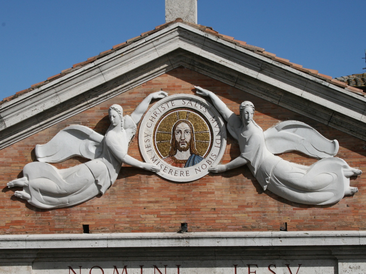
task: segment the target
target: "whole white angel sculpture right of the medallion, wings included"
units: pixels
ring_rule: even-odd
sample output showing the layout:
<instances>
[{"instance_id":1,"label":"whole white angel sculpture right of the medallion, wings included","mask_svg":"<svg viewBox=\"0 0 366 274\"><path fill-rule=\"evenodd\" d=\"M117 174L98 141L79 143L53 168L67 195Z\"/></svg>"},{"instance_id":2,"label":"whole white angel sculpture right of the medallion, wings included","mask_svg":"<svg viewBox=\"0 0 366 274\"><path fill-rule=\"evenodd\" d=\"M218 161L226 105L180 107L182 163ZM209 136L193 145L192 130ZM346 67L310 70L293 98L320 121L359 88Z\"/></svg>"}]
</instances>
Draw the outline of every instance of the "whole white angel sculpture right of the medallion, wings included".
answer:
<instances>
[{"instance_id":1,"label":"whole white angel sculpture right of the medallion, wings included","mask_svg":"<svg viewBox=\"0 0 366 274\"><path fill-rule=\"evenodd\" d=\"M337 154L337 140L330 141L311 126L298 121L284 121L263 132L253 120L254 105L240 104L240 116L235 115L213 92L195 87L197 94L209 96L213 105L228 122L227 128L239 142L240 156L224 165L214 165L210 172L223 172L247 164L264 190L293 202L309 205L336 203L344 195L358 192L350 187L350 176L361 174ZM273 155L300 151L321 159L305 166Z\"/></svg>"}]
</instances>

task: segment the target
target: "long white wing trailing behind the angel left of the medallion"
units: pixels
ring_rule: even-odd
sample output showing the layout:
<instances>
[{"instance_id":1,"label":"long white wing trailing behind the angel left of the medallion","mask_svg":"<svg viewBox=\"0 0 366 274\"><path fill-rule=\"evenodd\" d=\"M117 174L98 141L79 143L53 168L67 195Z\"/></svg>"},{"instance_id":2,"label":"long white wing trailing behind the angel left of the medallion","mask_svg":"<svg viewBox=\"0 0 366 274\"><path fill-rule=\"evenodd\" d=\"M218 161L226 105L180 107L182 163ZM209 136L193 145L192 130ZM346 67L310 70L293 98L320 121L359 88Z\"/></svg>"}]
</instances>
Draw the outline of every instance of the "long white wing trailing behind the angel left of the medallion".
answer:
<instances>
[{"instance_id":1,"label":"long white wing trailing behind the angel left of the medallion","mask_svg":"<svg viewBox=\"0 0 366 274\"><path fill-rule=\"evenodd\" d=\"M72 156L95 159L102 152L103 135L81 125L64 128L48 143L36 145L40 162L60 163Z\"/></svg>"}]
</instances>

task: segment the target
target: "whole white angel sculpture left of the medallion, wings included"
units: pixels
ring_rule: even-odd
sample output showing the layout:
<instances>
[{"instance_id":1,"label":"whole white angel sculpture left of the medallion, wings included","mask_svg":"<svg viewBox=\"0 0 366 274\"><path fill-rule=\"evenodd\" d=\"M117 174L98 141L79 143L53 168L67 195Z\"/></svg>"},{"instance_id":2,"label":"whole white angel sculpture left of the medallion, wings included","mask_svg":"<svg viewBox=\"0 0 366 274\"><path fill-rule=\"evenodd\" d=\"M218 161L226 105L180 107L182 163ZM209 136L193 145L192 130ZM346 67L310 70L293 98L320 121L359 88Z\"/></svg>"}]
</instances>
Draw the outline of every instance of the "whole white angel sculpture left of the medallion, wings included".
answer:
<instances>
[{"instance_id":1,"label":"whole white angel sculpture left of the medallion, wings included","mask_svg":"<svg viewBox=\"0 0 366 274\"><path fill-rule=\"evenodd\" d=\"M131 116L123 117L122 107L113 104L108 110L111 125L105 136L81 125L64 128L48 143L36 145L38 162L25 165L24 177L12 180L8 187L23 187L23 191L15 191L15 196L38 208L61 208L104 194L117 179L122 163L158 172L156 165L132 158L127 149L151 100L167 95L163 91L148 95ZM60 163L76 155L91 161L61 170L46 163Z\"/></svg>"}]
</instances>

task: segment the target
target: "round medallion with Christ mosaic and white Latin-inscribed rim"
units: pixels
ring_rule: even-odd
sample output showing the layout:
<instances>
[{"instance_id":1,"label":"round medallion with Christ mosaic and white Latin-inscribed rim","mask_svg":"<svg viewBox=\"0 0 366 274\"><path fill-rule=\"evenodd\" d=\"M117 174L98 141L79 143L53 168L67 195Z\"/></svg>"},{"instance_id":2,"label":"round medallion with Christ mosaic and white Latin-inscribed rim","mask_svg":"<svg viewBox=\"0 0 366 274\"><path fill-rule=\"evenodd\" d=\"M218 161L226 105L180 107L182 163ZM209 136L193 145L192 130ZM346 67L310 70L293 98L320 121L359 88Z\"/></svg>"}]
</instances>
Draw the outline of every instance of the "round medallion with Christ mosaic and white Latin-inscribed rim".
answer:
<instances>
[{"instance_id":1,"label":"round medallion with Christ mosaic and white Latin-inscribed rim","mask_svg":"<svg viewBox=\"0 0 366 274\"><path fill-rule=\"evenodd\" d=\"M157 174L190 182L219 164L226 147L226 128L219 112L198 96L177 94L158 101L139 130L143 159L161 168Z\"/></svg>"}]
</instances>

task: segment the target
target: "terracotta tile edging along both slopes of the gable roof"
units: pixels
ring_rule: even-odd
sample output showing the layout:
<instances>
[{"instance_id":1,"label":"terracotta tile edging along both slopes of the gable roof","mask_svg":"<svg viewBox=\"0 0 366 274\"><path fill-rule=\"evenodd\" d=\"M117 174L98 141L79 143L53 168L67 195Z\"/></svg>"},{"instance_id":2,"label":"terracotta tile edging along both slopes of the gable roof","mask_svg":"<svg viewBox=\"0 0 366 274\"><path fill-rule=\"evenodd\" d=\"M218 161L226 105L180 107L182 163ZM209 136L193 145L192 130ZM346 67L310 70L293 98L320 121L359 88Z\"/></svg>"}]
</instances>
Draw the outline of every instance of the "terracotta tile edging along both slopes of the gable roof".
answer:
<instances>
[{"instance_id":1,"label":"terracotta tile edging along both slopes of the gable roof","mask_svg":"<svg viewBox=\"0 0 366 274\"><path fill-rule=\"evenodd\" d=\"M53 80L56 80L56 79L58 79L58 78L60 78L60 77L62 77L64 75L67 75L68 73L71 73L71 72L73 72L73 71L75 71L77 69L82 68L82 66L84 66L84 65L87 65L87 64L89 64L91 62L94 62L94 61L96 61L96 60L98 60L98 59L100 59L100 58L102 58L104 56L107 56L107 55L109 55L109 54L111 54L111 53L113 53L113 52L115 52L115 51L117 51L119 49L122 49L123 47L126 47L126 46L130 45L131 43L137 42L137 41L139 41L142 38L145 38L145 37L147 37L147 36L149 36L149 35L151 35L153 33L156 33L157 31L163 30L164 28L170 26L171 24L178 23L178 22L184 23L184 24L186 24L188 26L191 26L191 27L194 27L194 28L198 28L201 31L204 31L206 33L213 34L213 35L219 37L220 39L223 39L223 40L228 41L230 43L234 43L237 46L240 46L240 47L243 47L244 49L250 50L251 52L254 52L254 53L257 53L257 54L259 54L261 56L264 56L264 57L267 57L269 59L272 59L273 61L280 62L281 64L290 66L291 68L294 68L294 69L296 69L298 71L307 73L307 74L309 74L311 76L317 77L318 79L321 79L323 81L326 81L326 82L328 82L330 84L333 84L333 85L336 85L338 87L344 88L347 91L351 91L351 92L353 92L355 94L359 94L359 95L362 95L362 96L365 96L366 97L366 93L365 92L363 92L359 88L355 88L354 86L351 86L351 85L347 84L346 80L345 81L342 81L342 80L338 80L338 78L333 79L332 76L319 73L315 69L303 68L302 65L292 63L292 62L290 62L290 60L284 59L284 58L281 58L281 57L278 57L274 53L266 52L265 49L262 48L262 47L257 47L257 46L249 45L249 44L247 44L244 41L240 41L240 40L234 39L234 37L231 37L231 36L228 36L228 35L224 35L224 34L220 34L219 32L213 30L212 27L207 27L207 26L203 26L203 25L200 25L200 24L195 24L195 23L187 22L187 21L184 21L182 18L177 18L177 19L175 19L175 20L173 20L171 22L167 22L165 24L161 24L159 26L156 26L153 30L150 30L150 31L146 31L144 33L141 33L141 35L139 35L137 37L128 39L126 42L123 42L123 43L119 43L117 45L114 45L114 46L112 46L112 49L105 50L104 52L99 53L97 56L89 57L89 58L87 58L86 61L76 63L76 64L72 65L71 68L64 69L60 73L58 73L56 75L53 75L51 77L48 77L47 80L44 80L44 81L41 81L39 83L36 83L36 84L31 85L30 88L27 88L27 89L22 90L22 91L18 91L14 95L11 95L11 96L8 96L8 97L4 98L2 101L0 101L0 104L3 104L3 103L8 102L10 100L13 100L13 99L17 98L18 96L20 96L22 94L25 94L27 92L30 92L30 91L36 89L36 88L41 87L42 85L48 84L48 83L50 83ZM347 76L343 76L343 77L347 77ZM339 78L341 78L341 77L339 77Z\"/></svg>"}]
</instances>

